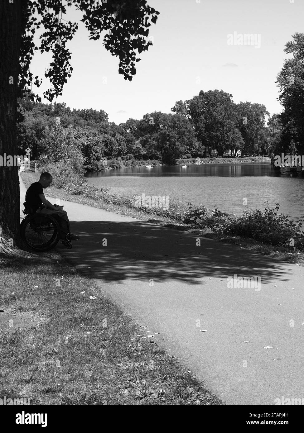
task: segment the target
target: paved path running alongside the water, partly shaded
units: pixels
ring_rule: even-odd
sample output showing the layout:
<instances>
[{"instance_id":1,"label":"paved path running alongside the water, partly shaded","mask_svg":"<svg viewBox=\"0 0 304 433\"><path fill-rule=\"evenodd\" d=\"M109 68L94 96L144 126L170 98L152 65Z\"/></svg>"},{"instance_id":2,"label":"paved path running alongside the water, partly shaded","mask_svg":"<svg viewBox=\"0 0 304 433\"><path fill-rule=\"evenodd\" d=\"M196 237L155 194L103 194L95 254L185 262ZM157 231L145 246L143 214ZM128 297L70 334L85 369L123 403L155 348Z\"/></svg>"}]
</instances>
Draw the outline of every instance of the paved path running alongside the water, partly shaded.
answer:
<instances>
[{"instance_id":1,"label":"paved path running alongside the water, partly shaded","mask_svg":"<svg viewBox=\"0 0 304 433\"><path fill-rule=\"evenodd\" d=\"M72 250L59 244L60 252L149 333L159 332L154 341L223 401L304 398L302 267L203 237L196 246L197 236L183 231L62 204L82 239ZM261 290L227 288L234 274L259 276Z\"/></svg>"}]
</instances>

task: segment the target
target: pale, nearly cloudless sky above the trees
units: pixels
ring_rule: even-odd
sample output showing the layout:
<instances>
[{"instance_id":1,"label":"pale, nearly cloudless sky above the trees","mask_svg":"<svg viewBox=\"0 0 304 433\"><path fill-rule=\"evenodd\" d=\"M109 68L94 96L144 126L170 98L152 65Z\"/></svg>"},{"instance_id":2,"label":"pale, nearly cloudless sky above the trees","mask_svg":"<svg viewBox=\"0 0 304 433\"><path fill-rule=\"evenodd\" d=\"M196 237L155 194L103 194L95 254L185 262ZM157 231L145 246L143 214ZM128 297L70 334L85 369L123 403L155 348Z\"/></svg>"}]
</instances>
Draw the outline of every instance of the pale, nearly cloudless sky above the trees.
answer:
<instances>
[{"instance_id":1,"label":"pale, nearly cloudless sky above the trees","mask_svg":"<svg viewBox=\"0 0 304 433\"><path fill-rule=\"evenodd\" d=\"M104 48L103 37L90 41L79 21L82 14L67 11L65 19L77 21L79 27L68 45L73 72L62 96L53 102L65 102L71 109L105 110L108 120L118 125L153 111L170 113L176 101L192 99L200 90L224 90L235 103L264 104L270 115L282 111L275 81L284 59L291 58L284 45L294 33L304 32L304 0L147 3L160 15L149 27L153 46L139 55L131 82L118 74L119 58ZM245 41L245 34L254 39ZM35 54L31 64L34 76L44 78L39 96L48 85L44 72L50 61L47 53Z\"/></svg>"}]
</instances>

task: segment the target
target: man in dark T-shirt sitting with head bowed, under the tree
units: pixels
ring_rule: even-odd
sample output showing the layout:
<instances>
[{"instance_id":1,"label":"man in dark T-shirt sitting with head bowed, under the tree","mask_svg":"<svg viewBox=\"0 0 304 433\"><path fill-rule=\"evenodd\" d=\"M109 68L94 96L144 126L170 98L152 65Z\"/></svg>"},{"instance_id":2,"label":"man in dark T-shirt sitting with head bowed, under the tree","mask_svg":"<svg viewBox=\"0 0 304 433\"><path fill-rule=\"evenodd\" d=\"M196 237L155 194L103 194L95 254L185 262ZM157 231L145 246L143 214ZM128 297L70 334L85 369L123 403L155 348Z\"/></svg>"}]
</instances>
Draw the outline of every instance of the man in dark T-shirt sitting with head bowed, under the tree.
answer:
<instances>
[{"instance_id":1,"label":"man in dark T-shirt sitting with head bowed, under the tree","mask_svg":"<svg viewBox=\"0 0 304 433\"><path fill-rule=\"evenodd\" d=\"M60 225L60 239L69 239L69 241L76 241L80 236L73 235L70 231L70 222L68 214L61 206L52 204L43 194L42 188L48 188L52 183L52 175L50 173L40 174L38 182L34 182L26 191L25 205L33 213L39 212L41 214L51 215L59 221Z\"/></svg>"}]
</instances>

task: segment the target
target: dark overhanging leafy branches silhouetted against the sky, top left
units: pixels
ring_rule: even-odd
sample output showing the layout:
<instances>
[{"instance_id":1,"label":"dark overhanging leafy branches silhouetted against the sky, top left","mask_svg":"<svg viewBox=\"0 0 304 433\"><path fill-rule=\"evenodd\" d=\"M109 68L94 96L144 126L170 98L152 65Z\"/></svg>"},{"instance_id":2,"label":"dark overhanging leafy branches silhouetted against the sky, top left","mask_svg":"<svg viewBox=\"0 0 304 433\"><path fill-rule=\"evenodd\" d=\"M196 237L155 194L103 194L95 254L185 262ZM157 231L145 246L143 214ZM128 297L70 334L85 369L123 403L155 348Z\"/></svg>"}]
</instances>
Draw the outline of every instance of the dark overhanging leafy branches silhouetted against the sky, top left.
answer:
<instances>
[{"instance_id":1,"label":"dark overhanging leafy branches silhouetted against the sky, top left","mask_svg":"<svg viewBox=\"0 0 304 433\"><path fill-rule=\"evenodd\" d=\"M62 94L63 85L73 70L67 43L78 29L77 23L62 18L70 6L75 6L83 13L81 21L88 29L89 39L98 40L102 31L108 32L103 39L103 45L111 55L119 57L118 73L122 74L125 80L131 81L136 74L135 64L141 60L137 58L138 54L153 45L145 38L149 34L151 23L156 23L159 12L148 6L146 0L23 0L20 94L32 83L38 87L41 84L41 79L38 76L33 77L29 72L29 65L36 50L41 53L52 52L52 62L45 73L51 87L44 96L52 101L55 96ZM40 36L40 45L36 46L34 35L41 26L45 31ZM41 101L41 98L38 100Z\"/></svg>"}]
</instances>

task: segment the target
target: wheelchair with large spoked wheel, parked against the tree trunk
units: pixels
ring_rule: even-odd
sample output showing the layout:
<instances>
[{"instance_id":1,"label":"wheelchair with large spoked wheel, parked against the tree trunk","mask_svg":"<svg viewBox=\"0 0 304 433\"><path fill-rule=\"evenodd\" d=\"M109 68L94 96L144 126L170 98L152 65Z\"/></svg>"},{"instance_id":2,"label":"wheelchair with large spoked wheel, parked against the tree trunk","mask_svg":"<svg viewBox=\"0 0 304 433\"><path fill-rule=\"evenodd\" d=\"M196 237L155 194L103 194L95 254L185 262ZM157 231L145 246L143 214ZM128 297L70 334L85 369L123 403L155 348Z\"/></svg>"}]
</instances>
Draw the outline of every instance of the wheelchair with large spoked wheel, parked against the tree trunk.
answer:
<instances>
[{"instance_id":1,"label":"wheelchair with large spoked wheel, parked against the tree trunk","mask_svg":"<svg viewBox=\"0 0 304 433\"><path fill-rule=\"evenodd\" d=\"M25 217L20 224L20 236L25 245L34 251L48 251L55 248L60 239L60 226L54 216L34 212L26 202L23 203ZM66 236L61 243L72 248L72 243Z\"/></svg>"}]
</instances>

